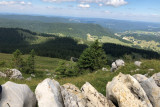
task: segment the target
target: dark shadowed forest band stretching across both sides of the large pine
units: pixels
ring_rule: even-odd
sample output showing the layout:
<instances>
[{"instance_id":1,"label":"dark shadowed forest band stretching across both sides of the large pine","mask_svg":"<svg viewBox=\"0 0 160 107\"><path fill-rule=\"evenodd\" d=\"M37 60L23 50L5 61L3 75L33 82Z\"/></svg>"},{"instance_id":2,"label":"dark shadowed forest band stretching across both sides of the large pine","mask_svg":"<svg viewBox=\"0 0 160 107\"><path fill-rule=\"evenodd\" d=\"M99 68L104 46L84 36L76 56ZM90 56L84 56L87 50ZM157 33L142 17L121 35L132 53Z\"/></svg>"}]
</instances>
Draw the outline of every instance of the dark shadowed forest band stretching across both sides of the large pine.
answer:
<instances>
[{"instance_id":1,"label":"dark shadowed forest band stretching across both sides of the large pine","mask_svg":"<svg viewBox=\"0 0 160 107\"><path fill-rule=\"evenodd\" d=\"M37 35L42 37L52 36L54 39L48 39L44 43L30 44L30 41L37 39ZM34 49L39 56L69 60L70 57L79 58L83 50L87 47L87 44L78 44L77 40L70 37L57 37L19 28L0 28L0 52L2 53L13 53L16 49L19 49L23 54L28 54ZM113 57L123 57L126 54L136 53L147 59L160 58L157 52L111 43L103 44L103 49L107 55L109 54Z\"/></svg>"}]
</instances>

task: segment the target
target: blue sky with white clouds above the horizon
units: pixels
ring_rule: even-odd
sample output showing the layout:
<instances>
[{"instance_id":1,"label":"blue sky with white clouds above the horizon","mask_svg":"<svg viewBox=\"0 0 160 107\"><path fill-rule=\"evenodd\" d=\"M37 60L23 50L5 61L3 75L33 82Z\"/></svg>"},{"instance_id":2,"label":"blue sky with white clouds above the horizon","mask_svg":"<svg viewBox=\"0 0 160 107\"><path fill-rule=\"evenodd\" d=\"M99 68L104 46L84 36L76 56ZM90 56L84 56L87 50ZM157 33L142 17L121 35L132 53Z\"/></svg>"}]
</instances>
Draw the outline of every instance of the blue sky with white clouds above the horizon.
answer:
<instances>
[{"instance_id":1,"label":"blue sky with white clouds above the horizon","mask_svg":"<svg viewBox=\"0 0 160 107\"><path fill-rule=\"evenodd\" d=\"M160 22L160 0L0 0L0 13Z\"/></svg>"}]
</instances>

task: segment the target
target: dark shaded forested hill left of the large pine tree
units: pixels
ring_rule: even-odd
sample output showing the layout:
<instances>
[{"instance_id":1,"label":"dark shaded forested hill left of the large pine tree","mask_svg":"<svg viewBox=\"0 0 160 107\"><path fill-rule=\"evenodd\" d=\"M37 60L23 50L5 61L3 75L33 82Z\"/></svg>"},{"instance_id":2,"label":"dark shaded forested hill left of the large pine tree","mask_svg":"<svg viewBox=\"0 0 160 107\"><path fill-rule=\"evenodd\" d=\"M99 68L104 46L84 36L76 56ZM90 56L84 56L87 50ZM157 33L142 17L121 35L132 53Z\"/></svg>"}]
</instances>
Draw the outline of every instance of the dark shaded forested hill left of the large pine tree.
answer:
<instances>
[{"instance_id":1,"label":"dark shaded forested hill left of the large pine tree","mask_svg":"<svg viewBox=\"0 0 160 107\"><path fill-rule=\"evenodd\" d=\"M43 37L46 38L44 42L31 44ZM25 54L34 49L40 56L70 59L72 56L79 57L86 47L69 37L38 34L19 28L0 28L0 52L3 53L13 53L20 49Z\"/></svg>"}]
</instances>

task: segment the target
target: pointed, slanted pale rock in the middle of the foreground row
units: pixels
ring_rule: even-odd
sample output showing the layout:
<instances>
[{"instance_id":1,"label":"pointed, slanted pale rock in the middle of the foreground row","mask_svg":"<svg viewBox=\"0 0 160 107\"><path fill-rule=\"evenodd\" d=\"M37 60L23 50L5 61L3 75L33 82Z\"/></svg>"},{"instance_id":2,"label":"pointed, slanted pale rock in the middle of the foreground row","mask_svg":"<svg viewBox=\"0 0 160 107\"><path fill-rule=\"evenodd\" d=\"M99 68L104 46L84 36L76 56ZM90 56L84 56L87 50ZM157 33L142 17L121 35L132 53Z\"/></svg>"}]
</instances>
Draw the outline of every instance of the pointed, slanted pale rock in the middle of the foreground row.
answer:
<instances>
[{"instance_id":1,"label":"pointed, slanted pale rock in the middle of the foreground row","mask_svg":"<svg viewBox=\"0 0 160 107\"><path fill-rule=\"evenodd\" d=\"M81 91L87 99L86 107L115 107L88 82L82 86Z\"/></svg>"}]
</instances>

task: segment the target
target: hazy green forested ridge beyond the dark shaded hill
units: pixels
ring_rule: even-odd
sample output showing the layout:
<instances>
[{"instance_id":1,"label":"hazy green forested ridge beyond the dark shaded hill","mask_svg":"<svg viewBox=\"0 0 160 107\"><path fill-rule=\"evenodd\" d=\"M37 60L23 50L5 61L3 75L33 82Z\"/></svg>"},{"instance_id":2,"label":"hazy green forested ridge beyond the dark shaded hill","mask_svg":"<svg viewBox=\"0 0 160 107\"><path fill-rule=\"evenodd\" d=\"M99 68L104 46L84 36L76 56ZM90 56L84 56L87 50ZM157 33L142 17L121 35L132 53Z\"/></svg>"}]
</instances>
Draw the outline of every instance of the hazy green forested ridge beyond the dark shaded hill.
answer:
<instances>
[{"instance_id":1,"label":"hazy green forested ridge beyond the dark shaded hill","mask_svg":"<svg viewBox=\"0 0 160 107\"><path fill-rule=\"evenodd\" d=\"M62 21L63 22L63 21ZM85 23L47 23L39 20L17 20L0 18L0 27L23 28L40 33L60 33L63 36L87 38L87 34L100 36L112 36L107 28L97 24Z\"/></svg>"}]
</instances>

